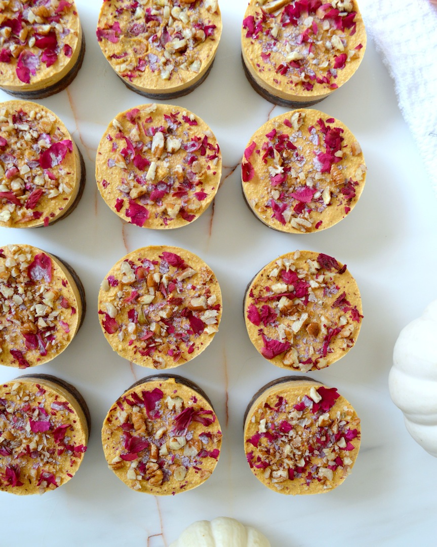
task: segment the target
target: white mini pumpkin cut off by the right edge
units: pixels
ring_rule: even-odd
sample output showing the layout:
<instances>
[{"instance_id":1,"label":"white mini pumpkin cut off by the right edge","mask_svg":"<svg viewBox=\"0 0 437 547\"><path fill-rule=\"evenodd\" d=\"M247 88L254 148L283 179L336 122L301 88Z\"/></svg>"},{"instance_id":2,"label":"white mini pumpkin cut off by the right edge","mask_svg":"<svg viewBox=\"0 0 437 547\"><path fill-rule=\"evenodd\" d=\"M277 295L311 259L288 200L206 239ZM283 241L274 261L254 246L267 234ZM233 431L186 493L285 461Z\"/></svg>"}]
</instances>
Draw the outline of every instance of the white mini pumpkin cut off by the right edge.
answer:
<instances>
[{"instance_id":1,"label":"white mini pumpkin cut off by the right edge","mask_svg":"<svg viewBox=\"0 0 437 547\"><path fill-rule=\"evenodd\" d=\"M413 439L437 457L437 300L403 330L393 350L390 395Z\"/></svg>"}]
</instances>

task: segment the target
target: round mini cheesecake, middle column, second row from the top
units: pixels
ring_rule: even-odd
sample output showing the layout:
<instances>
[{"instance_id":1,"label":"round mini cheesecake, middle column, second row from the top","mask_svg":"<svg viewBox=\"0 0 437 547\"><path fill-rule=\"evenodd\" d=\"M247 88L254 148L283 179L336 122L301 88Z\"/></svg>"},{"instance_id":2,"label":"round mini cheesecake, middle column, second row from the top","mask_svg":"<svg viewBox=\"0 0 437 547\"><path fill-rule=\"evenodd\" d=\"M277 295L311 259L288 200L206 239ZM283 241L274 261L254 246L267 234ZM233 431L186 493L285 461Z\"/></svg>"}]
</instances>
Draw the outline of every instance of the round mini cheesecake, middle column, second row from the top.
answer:
<instances>
[{"instance_id":1,"label":"round mini cheesecake, middle column, second row from the top","mask_svg":"<svg viewBox=\"0 0 437 547\"><path fill-rule=\"evenodd\" d=\"M97 149L96 180L109 208L142 228L190 224L214 199L222 154L209 126L167 104L118 114Z\"/></svg>"}]
</instances>

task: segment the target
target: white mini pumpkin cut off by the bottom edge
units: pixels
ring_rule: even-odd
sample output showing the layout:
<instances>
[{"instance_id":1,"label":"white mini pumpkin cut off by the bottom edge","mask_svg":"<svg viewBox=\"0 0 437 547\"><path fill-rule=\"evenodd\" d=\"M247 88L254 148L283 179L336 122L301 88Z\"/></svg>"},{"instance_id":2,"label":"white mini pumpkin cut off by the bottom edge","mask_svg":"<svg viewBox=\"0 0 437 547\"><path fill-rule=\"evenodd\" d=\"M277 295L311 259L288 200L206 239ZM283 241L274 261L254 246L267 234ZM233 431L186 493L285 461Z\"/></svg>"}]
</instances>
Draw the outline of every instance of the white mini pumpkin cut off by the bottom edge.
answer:
<instances>
[{"instance_id":1,"label":"white mini pumpkin cut off by the bottom edge","mask_svg":"<svg viewBox=\"0 0 437 547\"><path fill-rule=\"evenodd\" d=\"M170 547L271 547L269 540L250 526L229 517L193 522Z\"/></svg>"}]
</instances>

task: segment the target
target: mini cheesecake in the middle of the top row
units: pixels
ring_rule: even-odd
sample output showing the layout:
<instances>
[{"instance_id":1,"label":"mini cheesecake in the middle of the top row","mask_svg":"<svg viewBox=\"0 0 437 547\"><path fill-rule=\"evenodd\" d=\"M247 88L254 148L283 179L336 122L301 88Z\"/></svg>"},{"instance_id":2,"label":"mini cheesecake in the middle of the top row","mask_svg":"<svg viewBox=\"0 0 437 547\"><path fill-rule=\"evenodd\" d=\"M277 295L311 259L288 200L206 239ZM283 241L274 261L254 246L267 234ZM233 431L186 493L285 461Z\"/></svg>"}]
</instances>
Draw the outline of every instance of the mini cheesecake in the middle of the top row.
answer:
<instances>
[{"instance_id":1,"label":"mini cheesecake in the middle of the top row","mask_svg":"<svg viewBox=\"0 0 437 547\"><path fill-rule=\"evenodd\" d=\"M97 40L132 91L155 100L189 94L211 71L222 16L217 0L107 0Z\"/></svg>"}]
</instances>

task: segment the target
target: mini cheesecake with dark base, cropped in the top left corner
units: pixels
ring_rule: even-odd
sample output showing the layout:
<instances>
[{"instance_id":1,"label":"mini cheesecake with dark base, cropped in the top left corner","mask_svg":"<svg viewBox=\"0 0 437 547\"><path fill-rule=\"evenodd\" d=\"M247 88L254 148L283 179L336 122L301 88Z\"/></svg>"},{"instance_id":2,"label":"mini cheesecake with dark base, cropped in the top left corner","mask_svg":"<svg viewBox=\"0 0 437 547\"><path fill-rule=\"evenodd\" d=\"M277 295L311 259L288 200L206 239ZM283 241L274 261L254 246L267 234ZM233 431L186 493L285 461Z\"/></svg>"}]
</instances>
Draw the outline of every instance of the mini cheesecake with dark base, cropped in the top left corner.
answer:
<instances>
[{"instance_id":1,"label":"mini cheesecake with dark base, cropped in the top left corner","mask_svg":"<svg viewBox=\"0 0 437 547\"><path fill-rule=\"evenodd\" d=\"M5 0L0 14L0 89L36 99L65 89L77 75L85 39L73 0Z\"/></svg>"}]
</instances>

